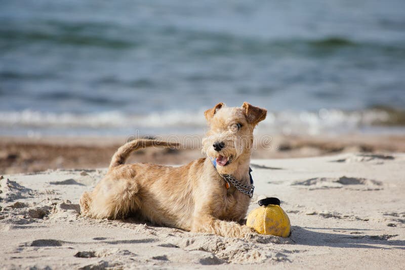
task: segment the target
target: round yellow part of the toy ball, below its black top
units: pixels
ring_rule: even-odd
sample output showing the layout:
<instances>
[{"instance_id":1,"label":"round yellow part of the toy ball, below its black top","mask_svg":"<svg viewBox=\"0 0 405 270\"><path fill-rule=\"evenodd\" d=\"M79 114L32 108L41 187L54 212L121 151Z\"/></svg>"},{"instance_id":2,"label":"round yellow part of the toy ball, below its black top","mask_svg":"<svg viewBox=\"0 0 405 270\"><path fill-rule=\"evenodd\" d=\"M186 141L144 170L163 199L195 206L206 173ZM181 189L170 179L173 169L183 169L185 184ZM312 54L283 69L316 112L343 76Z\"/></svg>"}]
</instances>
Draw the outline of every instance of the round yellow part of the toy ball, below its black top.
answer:
<instances>
[{"instance_id":1,"label":"round yellow part of the toy ball, below its black top","mask_svg":"<svg viewBox=\"0 0 405 270\"><path fill-rule=\"evenodd\" d=\"M279 205L269 204L253 210L249 213L246 224L259 234L290 236L290 218Z\"/></svg>"}]
</instances>

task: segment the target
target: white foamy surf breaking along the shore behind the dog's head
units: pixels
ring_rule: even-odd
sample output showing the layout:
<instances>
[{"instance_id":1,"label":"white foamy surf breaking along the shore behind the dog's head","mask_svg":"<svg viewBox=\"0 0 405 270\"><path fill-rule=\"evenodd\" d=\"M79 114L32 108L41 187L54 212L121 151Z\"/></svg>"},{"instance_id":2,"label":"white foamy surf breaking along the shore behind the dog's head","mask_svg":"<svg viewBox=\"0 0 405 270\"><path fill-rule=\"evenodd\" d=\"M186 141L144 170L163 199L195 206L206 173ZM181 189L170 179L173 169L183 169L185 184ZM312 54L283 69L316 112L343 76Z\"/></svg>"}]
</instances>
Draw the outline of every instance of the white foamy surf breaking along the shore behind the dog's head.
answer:
<instances>
[{"instance_id":1,"label":"white foamy surf breaking along the shore behind the dog's head","mask_svg":"<svg viewBox=\"0 0 405 270\"><path fill-rule=\"evenodd\" d=\"M260 133L280 134L338 134L360 131L364 128L405 126L404 112L393 109L370 108L361 111L320 109L319 111L269 112L260 123ZM141 133L189 132L202 133L206 128L203 111L167 111L148 115L129 115L119 111L72 114L46 113L31 110L0 112L0 129L30 130L103 130L124 132L137 129ZM153 130L153 131L152 131ZM405 130L405 129L404 129ZM45 131L44 131L45 132ZM126 131L125 131L126 132ZM46 133L46 132L45 132ZM94 133L94 132L93 132ZM108 132L111 133L111 132ZM101 134L102 135L102 134Z\"/></svg>"}]
</instances>

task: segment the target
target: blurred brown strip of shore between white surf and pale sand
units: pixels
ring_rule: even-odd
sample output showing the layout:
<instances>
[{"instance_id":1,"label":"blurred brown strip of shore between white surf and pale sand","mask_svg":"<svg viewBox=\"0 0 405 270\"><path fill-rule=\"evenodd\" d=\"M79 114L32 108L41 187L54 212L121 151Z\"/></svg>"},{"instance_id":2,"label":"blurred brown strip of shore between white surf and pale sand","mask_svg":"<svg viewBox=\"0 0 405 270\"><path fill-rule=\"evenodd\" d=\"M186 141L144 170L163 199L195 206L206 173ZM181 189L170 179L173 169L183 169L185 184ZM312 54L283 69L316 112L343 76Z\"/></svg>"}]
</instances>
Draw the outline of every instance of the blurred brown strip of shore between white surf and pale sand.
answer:
<instances>
[{"instance_id":1,"label":"blurred brown strip of shore between white surf and pale sand","mask_svg":"<svg viewBox=\"0 0 405 270\"><path fill-rule=\"evenodd\" d=\"M195 135L198 138L202 136ZM178 137L182 142L184 137ZM260 136L258 141L260 141ZM124 137L0 137L0 173L37 172L48 169L106 167ZM164 138L163 138L164 139ZM296 137L274 136L265 147L253 150L253 159L315 157L347 152L405 152L404 136ZM198 139L199 140L199 139ZM184 141L184 140L183 140ZM129 163L185 164L203 157L198 142L181 149L143 149Z\"/></svg>"}]
</instances>

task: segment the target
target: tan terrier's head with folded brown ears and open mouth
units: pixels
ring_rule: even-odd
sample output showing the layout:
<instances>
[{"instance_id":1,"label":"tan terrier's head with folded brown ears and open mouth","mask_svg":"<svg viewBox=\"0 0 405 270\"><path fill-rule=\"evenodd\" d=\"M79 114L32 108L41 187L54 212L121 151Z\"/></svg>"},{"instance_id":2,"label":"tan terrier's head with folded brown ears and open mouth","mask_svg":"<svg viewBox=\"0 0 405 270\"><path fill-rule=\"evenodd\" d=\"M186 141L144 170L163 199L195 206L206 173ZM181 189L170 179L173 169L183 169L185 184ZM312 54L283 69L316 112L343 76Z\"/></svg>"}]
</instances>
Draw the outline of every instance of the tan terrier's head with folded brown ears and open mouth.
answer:
<instances>
[{"instance_id":1,"label":"tan terrier's head with folded brown ears and open mouth","mask_svg":"<svg viewBox=\"0 0 405 270\"><path fill-rule=\"evenodd\" d=\"M210 127L203 139L203 152L216 159L219 173L232 174L241 156L251 154L253 129L266 118L267 110L245 102L241 107L218 103L205 113Z\"/></svg>"}]
</instances>

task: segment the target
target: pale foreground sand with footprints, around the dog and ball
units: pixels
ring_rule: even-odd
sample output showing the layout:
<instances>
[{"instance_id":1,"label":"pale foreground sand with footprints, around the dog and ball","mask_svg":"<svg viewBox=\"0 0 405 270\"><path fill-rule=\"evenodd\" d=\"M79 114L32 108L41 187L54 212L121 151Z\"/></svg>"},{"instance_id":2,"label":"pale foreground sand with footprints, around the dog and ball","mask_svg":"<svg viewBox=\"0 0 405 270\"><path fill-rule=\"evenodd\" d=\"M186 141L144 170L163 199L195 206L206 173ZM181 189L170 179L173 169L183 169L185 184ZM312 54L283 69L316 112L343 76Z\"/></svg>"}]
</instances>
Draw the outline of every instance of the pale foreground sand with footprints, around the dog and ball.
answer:
<instances>
[{"instance_id":1,"label":"pale foreground sand with footprints, around the dog and ball","mask_svg":"<svg viewBox=\"0 0 405 270\"><path fill-rule=\"evenodd\" d=\"M106 169L5 174L0 268L405 267L405 154L252 160L255 197L278 197L289 238L231 239L143 220L79 216Z\"/></svg>"}]
</instances>

